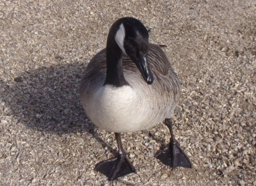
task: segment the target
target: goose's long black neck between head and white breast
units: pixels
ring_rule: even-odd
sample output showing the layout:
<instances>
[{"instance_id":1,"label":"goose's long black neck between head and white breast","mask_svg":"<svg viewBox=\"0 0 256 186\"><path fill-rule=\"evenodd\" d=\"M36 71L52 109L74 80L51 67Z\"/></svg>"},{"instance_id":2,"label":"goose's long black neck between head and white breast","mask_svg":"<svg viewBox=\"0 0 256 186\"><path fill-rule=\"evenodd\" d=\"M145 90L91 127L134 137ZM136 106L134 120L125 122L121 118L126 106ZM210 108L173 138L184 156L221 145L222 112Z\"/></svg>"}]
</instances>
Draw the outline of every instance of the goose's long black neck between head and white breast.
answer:
<instances>
[{"instance_id":1,"label":"goose's long black neck between head and white breast","mask_svg":"<svg viewBox=\"0 0 256 186\"><path fill-rule=\"evenodd\" d=\"M113 85L116 87L129 85L125 80L123 73L122 55L123 51L119 48L114 39L114 34L118 29L118 25L113 25L107 37L107 74L104 85Z\"/></svg>"}]
</instances>

